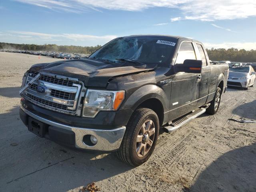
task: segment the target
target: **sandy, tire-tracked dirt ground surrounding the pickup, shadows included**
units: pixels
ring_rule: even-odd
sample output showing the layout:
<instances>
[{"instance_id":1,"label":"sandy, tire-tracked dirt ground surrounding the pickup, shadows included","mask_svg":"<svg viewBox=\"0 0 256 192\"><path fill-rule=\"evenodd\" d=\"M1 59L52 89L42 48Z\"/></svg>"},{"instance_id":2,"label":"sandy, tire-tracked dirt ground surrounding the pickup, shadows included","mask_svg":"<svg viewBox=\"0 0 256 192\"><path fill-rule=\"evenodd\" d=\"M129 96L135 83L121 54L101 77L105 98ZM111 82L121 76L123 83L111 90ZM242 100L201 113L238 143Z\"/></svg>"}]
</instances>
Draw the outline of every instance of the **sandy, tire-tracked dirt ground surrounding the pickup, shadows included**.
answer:
<instances>
[{"instance_id":1,"label":"sandy, tire-tracked dirt ground surrounding the pickup, shadows included","mask_svg":"<svg viewBox=\"0 0 256 192\"><path fill-rule=\"evenodd\" d=\"M104 192L255 192L256 88L228 88L214 116L203 114L162 133L145 164L132 167L114 153L59 146L29 132L19 118L21 80L54 58L0 52L0 191L78 192L90 182Z\"/></svg>"}]
</instances>

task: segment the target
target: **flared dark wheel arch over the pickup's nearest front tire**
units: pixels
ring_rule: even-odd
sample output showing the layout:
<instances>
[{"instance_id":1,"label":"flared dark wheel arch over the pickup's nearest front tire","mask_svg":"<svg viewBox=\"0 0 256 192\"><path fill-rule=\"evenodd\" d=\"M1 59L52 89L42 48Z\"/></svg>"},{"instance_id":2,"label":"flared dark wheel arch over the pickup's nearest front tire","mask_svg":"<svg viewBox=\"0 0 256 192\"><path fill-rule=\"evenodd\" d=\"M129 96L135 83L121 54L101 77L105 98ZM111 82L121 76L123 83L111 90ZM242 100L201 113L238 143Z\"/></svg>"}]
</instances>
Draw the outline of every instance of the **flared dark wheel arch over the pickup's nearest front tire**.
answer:
<instances>
[{"instance_id":1,"label":"flared dark wheel arch over the pickup's nearest front tire","mask_svg":"<svg viewBox=\"0 0 256 192\"><path fill-rule=\"evenodd\" d=\"M168 110L170 96L168 97L164 90L155 84L148 84L138 88L126 99L121 108L135 110L142 102L151 98L158 99L162 103L164 111Z\"/></svg>"}]
</instances>

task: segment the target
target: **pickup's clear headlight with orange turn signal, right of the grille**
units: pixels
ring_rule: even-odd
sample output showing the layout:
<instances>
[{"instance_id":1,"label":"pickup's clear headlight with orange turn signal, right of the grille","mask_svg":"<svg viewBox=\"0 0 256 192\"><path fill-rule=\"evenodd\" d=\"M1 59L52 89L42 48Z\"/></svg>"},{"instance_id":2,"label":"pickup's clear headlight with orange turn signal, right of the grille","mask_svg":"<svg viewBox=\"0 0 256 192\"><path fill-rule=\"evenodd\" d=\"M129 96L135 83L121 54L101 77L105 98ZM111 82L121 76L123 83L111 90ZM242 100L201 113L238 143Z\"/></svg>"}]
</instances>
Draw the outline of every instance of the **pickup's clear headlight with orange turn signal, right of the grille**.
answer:
<instances>
[{"instance_id":1,"label":"pickup's clear headlight with orange turn signal, right of the grille","mask_svg":"<svg viewBox=\"0 0 256 192\"><path fill-rule=\"evenodd\" d=\"M87 90L83 117L95 117L99 111L115 111L124 100L124 91Z\"/></svg>"}]
</instances>

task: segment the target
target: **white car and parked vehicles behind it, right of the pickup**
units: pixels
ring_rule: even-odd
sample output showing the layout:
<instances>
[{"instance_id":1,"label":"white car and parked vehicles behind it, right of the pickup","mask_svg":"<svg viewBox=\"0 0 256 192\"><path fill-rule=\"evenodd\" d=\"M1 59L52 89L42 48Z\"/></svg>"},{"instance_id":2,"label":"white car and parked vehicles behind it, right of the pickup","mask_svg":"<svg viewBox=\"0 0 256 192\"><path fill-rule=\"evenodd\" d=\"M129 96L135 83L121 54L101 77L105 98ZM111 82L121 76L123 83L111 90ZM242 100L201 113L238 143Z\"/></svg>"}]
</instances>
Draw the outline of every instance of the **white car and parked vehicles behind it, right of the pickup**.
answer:
<instances>
[{"instance_id":1,"label":"white car and parked vehicles behind it, right of the pickup","mask_svg":"<svg viewBox=\"0 0 256 192\"><path fill-rule=\"evenodd\" d=\"M236 86L248 90L253 87L256 76L256 63L212 61L213 64L228 64L230 72L228 75L228 86Z\"/></svg>"}]
</instances>

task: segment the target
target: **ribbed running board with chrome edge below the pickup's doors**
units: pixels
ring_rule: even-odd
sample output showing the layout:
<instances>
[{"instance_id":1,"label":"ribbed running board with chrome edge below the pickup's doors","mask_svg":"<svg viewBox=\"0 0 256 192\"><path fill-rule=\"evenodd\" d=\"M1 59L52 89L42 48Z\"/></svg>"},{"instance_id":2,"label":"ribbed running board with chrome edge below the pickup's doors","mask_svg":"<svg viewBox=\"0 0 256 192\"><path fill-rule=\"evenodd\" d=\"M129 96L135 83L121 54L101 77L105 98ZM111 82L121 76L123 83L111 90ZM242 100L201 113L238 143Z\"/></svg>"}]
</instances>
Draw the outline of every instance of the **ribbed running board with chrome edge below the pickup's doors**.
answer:
<instances>
[{"instance_id":1,"label":"ribbed running board with chrome edge below the pickup's doors","mask_svg":"<svg viewBox=\"0 0 256 192\"><path fill-rule=\"evenodd\" d=\"M198 108L198 109L192 111L192 113L190 113L186 116L183 116L182 118L179 118L179 119L175 120L169 126L163 127L164 131L167 132L167 133L173 132L176 129L180 128L182 125L186 124L187 122L190 122L192 119L200 116L205 111L206 111L205 108Z\"/></svg>"}]
</instances>

